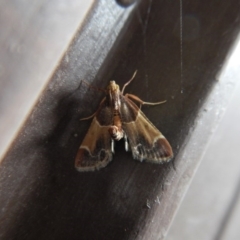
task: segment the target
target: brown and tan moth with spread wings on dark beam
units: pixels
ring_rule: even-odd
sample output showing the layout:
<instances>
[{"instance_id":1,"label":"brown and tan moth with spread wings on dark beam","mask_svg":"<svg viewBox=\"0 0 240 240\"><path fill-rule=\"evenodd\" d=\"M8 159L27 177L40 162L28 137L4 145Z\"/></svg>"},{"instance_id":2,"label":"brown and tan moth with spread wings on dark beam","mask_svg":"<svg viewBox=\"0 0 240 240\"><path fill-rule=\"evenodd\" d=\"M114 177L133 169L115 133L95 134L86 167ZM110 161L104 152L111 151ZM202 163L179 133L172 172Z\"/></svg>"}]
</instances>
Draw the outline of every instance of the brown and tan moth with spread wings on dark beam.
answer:
<instances>
[{"instance_id":1,"label":"brown and tan moth with spread wings on dark beam","mask_svg":"<svg viewBox=\"0 0 240 240\"><path fill-rule=\"evenodd\" d=\"M93 118L75 159L78 171L105 167L113 158L115 141L120 139L125 141L125 150L131 150L133 158L141 162L164 163L172 159L171 145L141 111L142 105L158 105L166 101L150 103L132 94L123 95L135 75L136 72L121 91L115 81L110 81L98 110L81 119Z\"/></svg>"}]
</instances>

